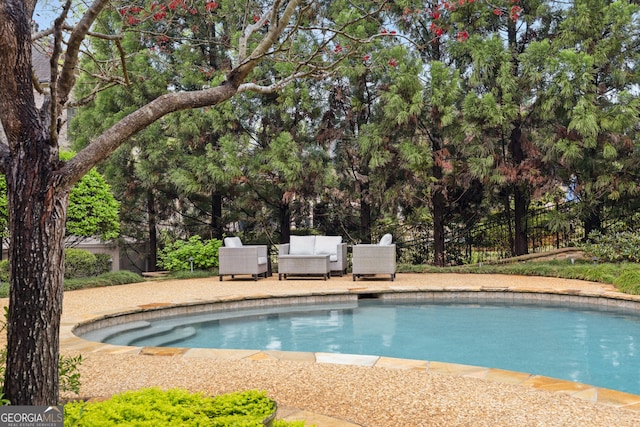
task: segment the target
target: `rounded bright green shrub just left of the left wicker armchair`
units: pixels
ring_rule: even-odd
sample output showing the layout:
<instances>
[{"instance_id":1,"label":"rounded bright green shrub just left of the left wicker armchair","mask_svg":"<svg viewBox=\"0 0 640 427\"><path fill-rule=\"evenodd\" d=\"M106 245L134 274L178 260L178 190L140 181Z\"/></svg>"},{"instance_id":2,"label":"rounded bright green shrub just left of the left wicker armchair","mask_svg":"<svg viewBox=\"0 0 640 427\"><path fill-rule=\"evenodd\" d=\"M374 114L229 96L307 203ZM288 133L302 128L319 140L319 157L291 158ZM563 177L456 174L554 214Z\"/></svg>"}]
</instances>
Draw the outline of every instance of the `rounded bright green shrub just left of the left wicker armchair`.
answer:
<instances>
[{"instance_id":1,"label":"rounded bright green shrub just left of the left wicker armchair","mask_svg":"<svg viewBox=\"0 0 640 427\"><path fill-rule=\"evenodd\" d=\"M190 270L193 268L206 270L218 266L218 248L222 241L211 239L203 242L200 236L193 236L188 241L177 240L165 246L158 255L158 265L168 271Z\"/></svg>"}]
</instances>

